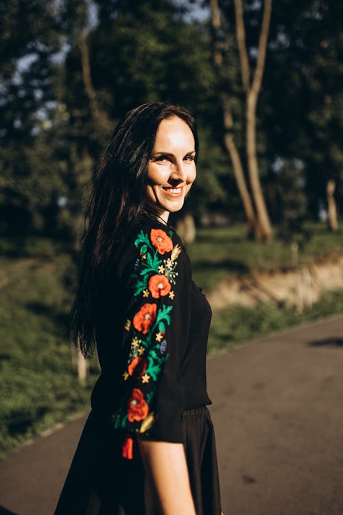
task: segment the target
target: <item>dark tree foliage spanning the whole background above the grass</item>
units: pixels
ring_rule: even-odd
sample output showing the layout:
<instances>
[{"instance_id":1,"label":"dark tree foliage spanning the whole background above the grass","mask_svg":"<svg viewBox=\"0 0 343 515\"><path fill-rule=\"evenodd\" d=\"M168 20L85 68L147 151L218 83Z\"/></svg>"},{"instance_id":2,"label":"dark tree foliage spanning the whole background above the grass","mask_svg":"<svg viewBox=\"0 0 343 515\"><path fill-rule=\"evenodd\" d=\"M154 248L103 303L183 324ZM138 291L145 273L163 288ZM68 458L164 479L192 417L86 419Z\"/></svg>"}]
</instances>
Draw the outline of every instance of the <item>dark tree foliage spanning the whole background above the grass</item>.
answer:
<instances>
[{"instance_id":1,"label":"dark tree foliage spanning the whole background above the grass","mask_svg":"<svg viewBox=\"0 0 343 515\"><path fill-rule=\"evenodd\" d=\"M254 69L263 3L243 5ZM180 104L198 120L198 180L188 208L244 217L222 142L222 81L230 84L238 149L245 137L233 1L220 8L226 61L218 78L209 1L0 3L1 233L80 238L95 160L123 113L149 100ZM275 163L301 164L287 167L289 187L301 184L307 199L302 216L317 215L330 179L342 205L342 14L329 0L274 3L257 104L259 172L273 221L282 219Z\"/></svg>"}]
</instances>

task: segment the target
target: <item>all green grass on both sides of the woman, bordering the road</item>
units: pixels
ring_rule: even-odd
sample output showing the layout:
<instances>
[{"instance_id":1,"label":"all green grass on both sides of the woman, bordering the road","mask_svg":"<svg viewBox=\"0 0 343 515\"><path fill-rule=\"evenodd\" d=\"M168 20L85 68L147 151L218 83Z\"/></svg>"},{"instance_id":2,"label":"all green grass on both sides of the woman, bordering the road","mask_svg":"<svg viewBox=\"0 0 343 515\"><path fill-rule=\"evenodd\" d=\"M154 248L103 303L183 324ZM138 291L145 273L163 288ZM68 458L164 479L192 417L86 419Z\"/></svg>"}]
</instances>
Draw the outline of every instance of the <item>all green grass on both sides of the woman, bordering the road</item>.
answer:
<instances>
[{"instance_id":1,"label":"all green grass on both sides of the woman, bordering the road","mask_svg":"<svg viewBox=\"0 0 343 515\"><path fill-rule=\"evenodd\" d=\"M71 293L64 286L71 269L69 255L58 244L35 238L25 245L0 240L0 251L0 453L4 456L87 409L99 371L93 360L88 382L81 386L71 366L67 335ZM342 251L342 230L333 235L316 226L302 260ZM287 247L245 240L243 227L200 229L189 253L196 282L206 289L230 273L274 270L289 263ZM209 352L337 312L343 312L341 291L327 293L301 315L262 304L230 306L213 316Z\"/></svg>"}]
</instances>

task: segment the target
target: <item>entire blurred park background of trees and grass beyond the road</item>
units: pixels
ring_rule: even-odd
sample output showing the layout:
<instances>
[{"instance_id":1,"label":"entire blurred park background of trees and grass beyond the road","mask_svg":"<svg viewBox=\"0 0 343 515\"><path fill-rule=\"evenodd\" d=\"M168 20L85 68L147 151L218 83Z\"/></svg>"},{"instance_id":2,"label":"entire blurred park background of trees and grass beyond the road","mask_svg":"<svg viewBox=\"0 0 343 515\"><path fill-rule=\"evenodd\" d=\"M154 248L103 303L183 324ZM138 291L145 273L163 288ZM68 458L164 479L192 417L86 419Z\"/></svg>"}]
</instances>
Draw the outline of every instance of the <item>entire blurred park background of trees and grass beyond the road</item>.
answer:
<instances>
[{"instance_id":1,"label":"entire blurred park background of trees and grass beyond the road","mask_svg":"<svg viewBox=\"0 0 343 515\"><path fill-rule=\"evenodd\" d=\"M1 454L89 407L69 310L93 165L150 100L198 121L172 223L213 308L209 352L343 310L343 4L2 0Z\"/></svg>"}]
</instances>

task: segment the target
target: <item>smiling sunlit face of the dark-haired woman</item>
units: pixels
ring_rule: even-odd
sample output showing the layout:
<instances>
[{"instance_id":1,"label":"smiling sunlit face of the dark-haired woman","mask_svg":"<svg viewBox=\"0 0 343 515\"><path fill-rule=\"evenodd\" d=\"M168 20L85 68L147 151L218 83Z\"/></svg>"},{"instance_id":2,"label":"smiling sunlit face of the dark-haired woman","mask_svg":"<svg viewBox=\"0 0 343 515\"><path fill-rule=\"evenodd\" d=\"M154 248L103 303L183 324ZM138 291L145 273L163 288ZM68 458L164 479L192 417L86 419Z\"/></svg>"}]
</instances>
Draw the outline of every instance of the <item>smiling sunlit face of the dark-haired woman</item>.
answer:
<instances>
[{"instance_id":1,"label":"smiling sunlit face of the dark-haired woman","mask_svg":"<svg viewBox=\"0 0 343 515\"><path fill-rule=\"evenodd\" d=\"M179 211L196 179L195 141L180 118L162 120L147 167L147 205L165 222Z\"/></svg>"}]
</instances>

